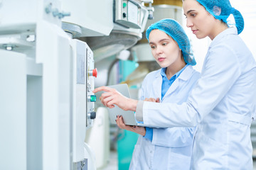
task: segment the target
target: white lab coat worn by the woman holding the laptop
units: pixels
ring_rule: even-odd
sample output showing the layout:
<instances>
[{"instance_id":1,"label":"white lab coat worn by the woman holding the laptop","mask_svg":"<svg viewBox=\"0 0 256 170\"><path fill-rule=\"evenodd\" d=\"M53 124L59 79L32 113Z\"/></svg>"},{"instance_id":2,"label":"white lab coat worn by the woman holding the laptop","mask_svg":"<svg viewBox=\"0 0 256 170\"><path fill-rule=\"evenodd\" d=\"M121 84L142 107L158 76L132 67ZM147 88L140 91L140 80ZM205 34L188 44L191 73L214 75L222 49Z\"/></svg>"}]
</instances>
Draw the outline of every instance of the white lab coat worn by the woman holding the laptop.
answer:
<instances>
[{"instance_id":1,"label":"white lab coat worn by the woman holding the laptop","mask_svg":"<svg viewBox=\"0 0 256 170\"><path fill-rule=\"evenodd\" d=\"M160 72L161 69L147 74L142 84L141 100L161 98ZM182 103L186 101L199 77L200 73L188 65L171 84L161 102ZM154 117L157 118L157 115ZM152 142L140 135L129 169L189 169L195 131L196 128L153 128Z\"/></svg>"}]
</instances>

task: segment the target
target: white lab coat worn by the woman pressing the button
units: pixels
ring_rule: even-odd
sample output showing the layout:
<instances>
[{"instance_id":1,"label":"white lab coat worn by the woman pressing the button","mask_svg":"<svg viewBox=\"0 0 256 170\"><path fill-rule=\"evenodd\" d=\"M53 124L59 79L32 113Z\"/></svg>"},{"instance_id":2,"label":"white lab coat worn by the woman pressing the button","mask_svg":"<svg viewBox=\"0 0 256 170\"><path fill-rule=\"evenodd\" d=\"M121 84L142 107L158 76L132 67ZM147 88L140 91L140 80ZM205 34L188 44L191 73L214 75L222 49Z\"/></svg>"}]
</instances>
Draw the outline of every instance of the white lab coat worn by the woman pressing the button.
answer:
<instances>
[{"instance_id":1,"label":"white lab coat worn by the woman pressing the button","mask_svg":"<svg viewBox=\"0 0 256 170\"><path fill-rule=\"evenodd\" d=\"M191 169L250 170L250 124L255 112L255 59L236 28L228 28L211 42L201 79L188 101L144 102L143 120L161 128L199 123Z\"/></svg>"}]
</instances>

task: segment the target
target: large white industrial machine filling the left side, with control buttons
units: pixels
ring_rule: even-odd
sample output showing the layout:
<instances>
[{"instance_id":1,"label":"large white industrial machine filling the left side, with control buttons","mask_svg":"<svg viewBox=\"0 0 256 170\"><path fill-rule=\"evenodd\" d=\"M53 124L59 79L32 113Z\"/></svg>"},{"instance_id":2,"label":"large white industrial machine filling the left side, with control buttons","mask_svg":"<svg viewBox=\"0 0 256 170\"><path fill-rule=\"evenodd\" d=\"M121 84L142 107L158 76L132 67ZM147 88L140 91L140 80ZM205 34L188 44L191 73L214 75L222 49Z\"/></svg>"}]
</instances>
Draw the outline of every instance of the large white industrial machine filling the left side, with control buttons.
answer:
<instances>
[{"instance_id":1,"label":"large white industrial machine filling the left side, with control buttons","mask_svg":"<svg viewBox=\"0 0 256 170\"><path fill-rule=\"evenodd\" d=\"M95 50L107 43L73 38L134 35L123 50L142 37L149 9L135 0L0 1L0 169L96 169L85 135L96 116L94 53L100 59Z\"/></svg>"}]
</instances>

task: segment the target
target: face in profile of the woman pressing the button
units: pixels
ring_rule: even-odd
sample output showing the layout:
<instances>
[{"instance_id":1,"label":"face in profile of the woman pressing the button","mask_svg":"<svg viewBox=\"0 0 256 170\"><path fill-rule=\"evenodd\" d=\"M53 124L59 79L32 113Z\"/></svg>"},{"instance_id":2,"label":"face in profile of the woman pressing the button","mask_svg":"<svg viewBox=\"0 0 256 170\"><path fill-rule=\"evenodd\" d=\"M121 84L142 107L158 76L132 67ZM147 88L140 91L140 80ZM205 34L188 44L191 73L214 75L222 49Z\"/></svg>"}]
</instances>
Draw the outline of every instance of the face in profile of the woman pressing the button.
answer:
<instances>
[{"instance_id":1,"label":"face in profile of the woman pressing the button","mask_svg":"<svg viewBox=\"0 0 256 170\"><path fill-rule=\"evenodd\" d=\"M191 28L198 39L207 36L213 40L215 37L216 19L206 11L206 8L196 0L184 0L183 11L186 16L186 26Z\"/></svg>"}]
</instances>

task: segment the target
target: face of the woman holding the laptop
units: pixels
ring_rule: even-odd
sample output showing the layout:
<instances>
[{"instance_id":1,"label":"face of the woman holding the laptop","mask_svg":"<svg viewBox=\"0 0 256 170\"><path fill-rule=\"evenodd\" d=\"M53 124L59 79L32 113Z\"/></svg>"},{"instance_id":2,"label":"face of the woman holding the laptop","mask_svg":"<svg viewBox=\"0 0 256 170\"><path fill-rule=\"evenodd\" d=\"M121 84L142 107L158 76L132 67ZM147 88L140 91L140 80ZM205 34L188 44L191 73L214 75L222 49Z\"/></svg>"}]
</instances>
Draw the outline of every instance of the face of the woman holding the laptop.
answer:
<instances>
[{"instance_id":1,"label":"face of the woman holding the laptop","mask_svg":"<svg viewBox=\"0 0 256 170\"><path fill-rule=\"evenodd\" d=\"M149 34L149 45L152 55L160 67L183 63L181 50L178 43L161 30L151 30Z\"/></svg>"}]
</instances>

